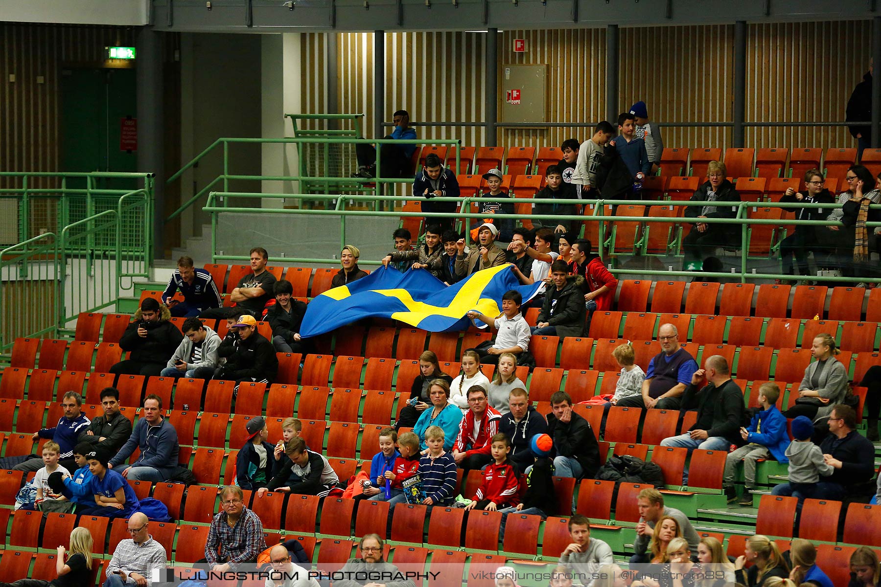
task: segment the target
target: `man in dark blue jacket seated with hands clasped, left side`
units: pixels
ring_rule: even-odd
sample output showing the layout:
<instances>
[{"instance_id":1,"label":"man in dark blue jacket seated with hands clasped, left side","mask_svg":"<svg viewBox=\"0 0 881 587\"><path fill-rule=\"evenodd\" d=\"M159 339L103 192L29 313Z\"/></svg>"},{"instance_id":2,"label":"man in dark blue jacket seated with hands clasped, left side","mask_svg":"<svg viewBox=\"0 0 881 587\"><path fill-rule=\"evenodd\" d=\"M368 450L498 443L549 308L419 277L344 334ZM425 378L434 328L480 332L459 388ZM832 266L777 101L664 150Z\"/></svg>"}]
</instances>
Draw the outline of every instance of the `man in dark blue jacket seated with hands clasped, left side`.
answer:
<instances>
[{"instance_id":1,"label":"man in dark blue jacket seated with hands clasped, left side","mask_svg":"<svg viewBox=\"0 0 881 587\"><path fill-rule=\"evenodd\" d=\"M140 456L130 466L122 463L138 448ZM162 417L162 398L151 393L144 398L141 418L131 431L129 440L122 446L109 467L121 469L122 476L130 481L168 481L181 450L177 442L177 430Z\"/></svg>"}]
</instances>

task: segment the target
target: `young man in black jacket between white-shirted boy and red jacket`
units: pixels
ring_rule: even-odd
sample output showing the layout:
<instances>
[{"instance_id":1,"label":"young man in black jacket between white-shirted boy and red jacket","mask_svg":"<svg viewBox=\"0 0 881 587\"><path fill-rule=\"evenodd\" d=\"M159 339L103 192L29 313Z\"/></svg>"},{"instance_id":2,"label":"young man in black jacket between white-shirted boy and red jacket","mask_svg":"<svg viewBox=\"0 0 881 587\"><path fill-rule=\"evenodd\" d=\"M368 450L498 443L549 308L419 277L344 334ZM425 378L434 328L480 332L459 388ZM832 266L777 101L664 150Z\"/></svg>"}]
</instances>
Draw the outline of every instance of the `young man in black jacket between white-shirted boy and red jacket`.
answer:
<instances>
[{"instance_id":1,"label":"young man in black jacket between white-shirted boy and red jacket","mask_svg":"<svg viewBox=\"0 0 881 587\"><path fill-rule=\"evenodd\" d=\"M569 275L566 261L555 260L551 266L552 288L544 292L542 311L537 326L530 328L533 336L582 336L585 305L581 293L584 277Z\"/></svg>"}]
</instances>

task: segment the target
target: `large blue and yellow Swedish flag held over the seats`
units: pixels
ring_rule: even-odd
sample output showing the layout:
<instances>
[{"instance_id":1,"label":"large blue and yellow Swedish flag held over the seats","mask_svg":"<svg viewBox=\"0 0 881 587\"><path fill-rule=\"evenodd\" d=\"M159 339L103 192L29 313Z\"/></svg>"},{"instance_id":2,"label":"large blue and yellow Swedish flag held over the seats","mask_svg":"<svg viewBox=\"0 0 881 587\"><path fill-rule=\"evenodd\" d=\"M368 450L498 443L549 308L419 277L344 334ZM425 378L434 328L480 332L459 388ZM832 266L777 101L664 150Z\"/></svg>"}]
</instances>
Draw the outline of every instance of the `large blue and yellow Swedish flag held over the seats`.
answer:
<instances>
[{"instance_id":1,"label":"large blue and yellow Swedish flag held over the seats","mask_svg":"<svg viewBox=\"0 0 881 587\"><path fill-rule=\"evenodd\" d=\"M378 268L356 282L313 298L300 336L317 336L364 318L396 319L429 332L464 330L469 325L465 314L470 310L496 316L507 290L519 291L525 304L540 286L541 282L521 285L510 265L478 271L450 286L426 269L401 273Z\"/></svg>"}]
</instances>

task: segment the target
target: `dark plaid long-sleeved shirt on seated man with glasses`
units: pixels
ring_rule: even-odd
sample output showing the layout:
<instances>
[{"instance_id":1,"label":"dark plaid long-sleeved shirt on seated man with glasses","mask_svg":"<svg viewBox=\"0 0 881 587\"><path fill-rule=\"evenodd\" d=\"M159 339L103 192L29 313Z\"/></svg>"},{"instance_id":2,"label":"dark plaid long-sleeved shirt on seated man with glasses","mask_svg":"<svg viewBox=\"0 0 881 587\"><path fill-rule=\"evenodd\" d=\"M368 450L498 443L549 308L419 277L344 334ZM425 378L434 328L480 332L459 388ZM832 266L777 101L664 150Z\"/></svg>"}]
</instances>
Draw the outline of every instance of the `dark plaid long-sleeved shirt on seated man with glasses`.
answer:
<instances>
[{"instance_id":1,"label":"dark plaid long-sleeved shirt on seated man with glasses","mask_svg":"<svg viewBox=\"0 0 881 587\"><path fill-rule=\"evenodd\" d=\"M218 554L219 547L219 554ZM205 560L211 568L221 562L228 562L235 570L241 562L256 562L257 554L266 550L263 539L263 523L248 508L241 509L241 516L230 528L226 523L226 511L221 511L213 520L205 542Z\"/></svg>"}]
</instances>

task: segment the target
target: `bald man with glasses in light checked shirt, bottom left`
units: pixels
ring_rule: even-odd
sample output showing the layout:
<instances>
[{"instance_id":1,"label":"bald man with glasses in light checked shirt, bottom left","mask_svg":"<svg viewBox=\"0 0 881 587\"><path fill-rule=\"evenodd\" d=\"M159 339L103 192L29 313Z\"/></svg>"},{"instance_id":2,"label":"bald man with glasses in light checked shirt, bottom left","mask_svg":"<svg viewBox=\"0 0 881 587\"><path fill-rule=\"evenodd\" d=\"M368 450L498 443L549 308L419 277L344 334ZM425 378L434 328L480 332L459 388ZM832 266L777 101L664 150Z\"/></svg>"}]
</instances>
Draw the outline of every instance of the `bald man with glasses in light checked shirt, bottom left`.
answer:
<instances>
[{"instance_id":1,"label":"bald man with glasses in light checked shirt, bottom left","mask_svg":"<svg viewBox=\"0 0 881 587\"><path fill-rule=\"evenodd\" d=\"M127 524L131 538L122 539L116 545L113 557L107 563L104 587L149 585L153 569L165 570L168 566L165 547L150 535L150 520L137 512Z\"/></svg>"}]
</instances>

